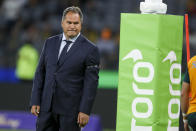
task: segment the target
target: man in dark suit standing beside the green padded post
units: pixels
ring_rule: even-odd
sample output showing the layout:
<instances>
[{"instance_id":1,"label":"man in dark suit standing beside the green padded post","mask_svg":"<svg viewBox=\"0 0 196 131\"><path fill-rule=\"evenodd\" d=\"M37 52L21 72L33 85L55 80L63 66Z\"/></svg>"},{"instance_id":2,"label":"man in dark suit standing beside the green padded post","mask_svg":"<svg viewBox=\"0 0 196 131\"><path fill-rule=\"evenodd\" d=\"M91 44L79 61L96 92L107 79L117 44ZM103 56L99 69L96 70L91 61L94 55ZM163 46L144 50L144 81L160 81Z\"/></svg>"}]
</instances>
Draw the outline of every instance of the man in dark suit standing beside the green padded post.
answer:
<instances>
[{"instance_id":1,"label":"man in dark suit standing beside the green padded post","mask_svg":"<svg viewBox=\"0 0 196 131\"><path fill-rule=\"evenodd\" d=\"M31 113L37 131L79 131L89 120L99 72L98 48L82 34L78 7L63 12L60 35L45 41L35 73Z\"/></svg>"}]
</instances>

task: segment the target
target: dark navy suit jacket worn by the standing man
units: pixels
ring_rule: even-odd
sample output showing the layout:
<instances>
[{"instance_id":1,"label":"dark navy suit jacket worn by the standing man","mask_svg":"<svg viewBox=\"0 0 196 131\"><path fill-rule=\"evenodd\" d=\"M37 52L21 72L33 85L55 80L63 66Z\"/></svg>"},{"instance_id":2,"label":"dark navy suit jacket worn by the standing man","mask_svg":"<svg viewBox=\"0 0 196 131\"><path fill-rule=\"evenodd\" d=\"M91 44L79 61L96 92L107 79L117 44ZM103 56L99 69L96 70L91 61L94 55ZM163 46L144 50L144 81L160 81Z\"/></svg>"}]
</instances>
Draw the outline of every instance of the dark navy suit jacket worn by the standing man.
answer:
<instances>
[{"instance_id":1,"label":"dark navy suit jacket worn by the standing man","mask_svg":"<svg viewBox=\"0 0 196 131\"><path fill-rule=\"evenodd\" d=\"M59 114L90 114L98 86L98 48L81 34L58 63L62 34L45 41L30 105Z\"/></svg>"}]
</instances>

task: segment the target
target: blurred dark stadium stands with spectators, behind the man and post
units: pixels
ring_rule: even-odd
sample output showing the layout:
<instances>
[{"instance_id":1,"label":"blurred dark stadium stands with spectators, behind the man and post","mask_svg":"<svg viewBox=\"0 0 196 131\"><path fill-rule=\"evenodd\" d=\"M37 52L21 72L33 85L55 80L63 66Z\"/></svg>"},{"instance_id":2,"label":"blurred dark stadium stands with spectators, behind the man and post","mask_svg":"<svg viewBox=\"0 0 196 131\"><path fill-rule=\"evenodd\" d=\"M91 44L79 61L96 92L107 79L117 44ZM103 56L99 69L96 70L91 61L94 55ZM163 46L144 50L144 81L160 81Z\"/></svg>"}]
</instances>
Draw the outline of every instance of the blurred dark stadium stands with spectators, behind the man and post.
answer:
<instances>
[{"instance_id":1,"label":"blurred dark stadium stands with spectators, behind the man and post","mask_svg":"<svg viewBox=\"0 0 196 131\"><path fill-rule=\"evenodd\" d=\"M144 0L141 0L144 1ZM100 49L101 69L118 70L120 13L140 13L139 0L1 0L0 68L15 68L19 49L31 44L40 54L49 36L62 33L61 16L68 6L84 13L82 33ZM163 0L168 14L190 16L191 56L196 52L196 1ZM184 44L185 45L185 44ZM186 50L183 49L183 52ZM183 57L185 57L183 53ZM186 60L183 60L186 63Z\"/></svg>"}]
</instances>

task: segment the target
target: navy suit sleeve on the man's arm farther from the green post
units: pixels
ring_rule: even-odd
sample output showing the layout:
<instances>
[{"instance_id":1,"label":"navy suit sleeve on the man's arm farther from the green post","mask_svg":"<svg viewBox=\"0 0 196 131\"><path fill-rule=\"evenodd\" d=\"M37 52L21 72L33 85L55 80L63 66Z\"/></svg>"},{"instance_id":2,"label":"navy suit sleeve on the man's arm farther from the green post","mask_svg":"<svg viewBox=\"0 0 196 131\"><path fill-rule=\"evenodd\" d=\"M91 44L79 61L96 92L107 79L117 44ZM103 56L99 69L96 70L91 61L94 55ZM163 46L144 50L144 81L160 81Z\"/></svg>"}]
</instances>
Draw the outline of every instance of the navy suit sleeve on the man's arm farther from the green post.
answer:
<instances>
[{"instance_id":1,"label":"navy suit sleeve on the man's arm farther from the green post","mask_svg":"<svg viewBox=\"0 0 196 131\"><path fill-rule=\"evenodd\" d=\"M32 105L40 105L41 103L41 95L42 95L42 89L44 86L44 79L45 79L45 52L46 52L46 44L47 40L44 43L41 56L39 59L39 63L35 72L35 77L33 80L33 88L31 93L31 101L30 106Z\"/></svg>"}]
</instances>

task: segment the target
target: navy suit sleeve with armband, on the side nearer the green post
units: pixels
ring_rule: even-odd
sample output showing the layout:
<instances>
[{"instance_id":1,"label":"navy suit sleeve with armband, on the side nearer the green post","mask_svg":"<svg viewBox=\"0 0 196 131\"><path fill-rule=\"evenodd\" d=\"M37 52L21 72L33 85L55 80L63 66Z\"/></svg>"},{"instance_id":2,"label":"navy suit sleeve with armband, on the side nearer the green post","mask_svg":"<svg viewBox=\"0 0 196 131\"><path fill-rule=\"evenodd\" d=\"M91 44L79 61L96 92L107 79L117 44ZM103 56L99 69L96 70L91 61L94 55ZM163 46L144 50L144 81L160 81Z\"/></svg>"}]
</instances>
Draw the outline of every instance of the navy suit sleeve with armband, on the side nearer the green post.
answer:
<instances>
[{"instance_id":1,"label":"navy suit sleeve with armband, on the side nearer the green post","mask_svg":"<svg viewBox=\"0 0 196 131\"><path fill-rule=\"evenodd\" d=\"M84 87L80 102L80 112L90 114L96 96L99 79L99 51L95 47L85 61Z\"/></svg>"}]
</instances>

